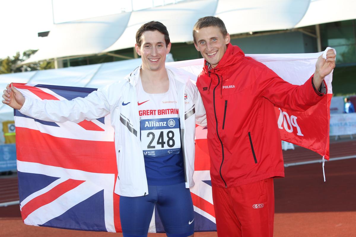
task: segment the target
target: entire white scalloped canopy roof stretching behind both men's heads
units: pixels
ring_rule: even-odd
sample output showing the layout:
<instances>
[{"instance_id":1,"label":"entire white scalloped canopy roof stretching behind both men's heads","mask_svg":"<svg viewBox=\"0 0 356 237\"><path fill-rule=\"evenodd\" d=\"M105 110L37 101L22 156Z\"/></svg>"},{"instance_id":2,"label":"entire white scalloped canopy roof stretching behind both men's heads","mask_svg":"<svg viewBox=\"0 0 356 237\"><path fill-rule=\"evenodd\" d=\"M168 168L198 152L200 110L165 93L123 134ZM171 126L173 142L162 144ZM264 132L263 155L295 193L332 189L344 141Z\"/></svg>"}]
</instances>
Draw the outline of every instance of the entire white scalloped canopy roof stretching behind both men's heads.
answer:
<instances>
[{"instance_id":1,"label":"entire white scalloped canopy roof stretching behind both men's heads","mask_svg":"<svg viewBox=\"0 0 356 237\"><path fill-rule=\"evenodd\" d=\"M350 0L195 0L133 12L59 23L46 43L22 64L69 56L94 55L131 48L137 29L151 20L162 22L173 43L192 42L194 23L218 16L230 34L292 29L356 18Z\"/></svg>"}]
</instances>

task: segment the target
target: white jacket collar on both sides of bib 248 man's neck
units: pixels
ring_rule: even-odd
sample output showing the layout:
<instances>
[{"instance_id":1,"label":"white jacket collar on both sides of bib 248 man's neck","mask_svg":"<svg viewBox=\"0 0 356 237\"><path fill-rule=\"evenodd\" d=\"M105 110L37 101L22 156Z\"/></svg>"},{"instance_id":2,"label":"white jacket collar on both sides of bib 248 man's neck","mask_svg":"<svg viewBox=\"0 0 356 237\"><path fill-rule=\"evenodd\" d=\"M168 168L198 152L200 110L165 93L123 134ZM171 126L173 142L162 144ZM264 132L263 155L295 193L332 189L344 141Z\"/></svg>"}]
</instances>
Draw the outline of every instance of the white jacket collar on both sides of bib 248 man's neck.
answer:
<instances>
[{"instance_id":1,"label":"white jacket collar on both sides of bib 248 man's neck","mask_svg":"<svg viewBox=\"0 0 356 237\"><path fill-rule=\"evenodd\" d=\"M140 79L140 69L142 68L142 64L138 66L135 70L133 70L129 75L125 77L127 82L129 82L132 86L137 85L138 79ZM182 84L187 84L187 82L192 78L196 77L188 71L183 69L177 69L173 67L166 66L168 76L172 76L176 81L181 82Z\"/></svg>"}]
</instances>

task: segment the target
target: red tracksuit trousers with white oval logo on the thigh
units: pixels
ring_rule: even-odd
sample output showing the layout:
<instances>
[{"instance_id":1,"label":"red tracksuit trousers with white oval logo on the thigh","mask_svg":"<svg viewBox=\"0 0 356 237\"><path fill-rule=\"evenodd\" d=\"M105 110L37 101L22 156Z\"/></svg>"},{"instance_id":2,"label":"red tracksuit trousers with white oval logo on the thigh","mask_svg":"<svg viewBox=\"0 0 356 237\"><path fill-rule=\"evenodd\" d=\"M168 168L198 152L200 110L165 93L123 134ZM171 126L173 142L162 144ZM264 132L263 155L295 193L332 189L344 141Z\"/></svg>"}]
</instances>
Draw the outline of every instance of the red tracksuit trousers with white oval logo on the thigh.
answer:
<instances>
[{"instance_id":1,"label":"red tracksuit trousers with white oval logo on the thigh","mask_svg":"<svg viewBox=\"0 0 356 237\"><path fill-rule=\"evenodd\" d=\"M219 237L272 237L273 178L231 188L213 185Z\"/></svg>"}]
</instances>

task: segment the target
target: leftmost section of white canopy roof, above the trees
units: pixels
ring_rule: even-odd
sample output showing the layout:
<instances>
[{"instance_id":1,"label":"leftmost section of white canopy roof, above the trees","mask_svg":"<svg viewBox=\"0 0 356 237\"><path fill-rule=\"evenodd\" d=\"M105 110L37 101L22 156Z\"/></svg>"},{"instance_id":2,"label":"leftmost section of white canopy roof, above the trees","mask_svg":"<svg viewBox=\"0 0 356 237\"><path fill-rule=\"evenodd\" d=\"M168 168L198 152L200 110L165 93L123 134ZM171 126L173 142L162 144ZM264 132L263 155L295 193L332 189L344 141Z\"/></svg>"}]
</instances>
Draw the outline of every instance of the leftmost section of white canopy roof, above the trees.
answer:
<instances>
[{"instance_id":1,"label":"leftmost section of white canopy roof, above the trees","mask_svg":"<svg viewBox=\"0 0 356 237\"><path fill-rule=\"evenodd\" d=\"M131 12L54 24L41 48L22 64L102 52L125 31Z\"/></svg>"}]
</instances>

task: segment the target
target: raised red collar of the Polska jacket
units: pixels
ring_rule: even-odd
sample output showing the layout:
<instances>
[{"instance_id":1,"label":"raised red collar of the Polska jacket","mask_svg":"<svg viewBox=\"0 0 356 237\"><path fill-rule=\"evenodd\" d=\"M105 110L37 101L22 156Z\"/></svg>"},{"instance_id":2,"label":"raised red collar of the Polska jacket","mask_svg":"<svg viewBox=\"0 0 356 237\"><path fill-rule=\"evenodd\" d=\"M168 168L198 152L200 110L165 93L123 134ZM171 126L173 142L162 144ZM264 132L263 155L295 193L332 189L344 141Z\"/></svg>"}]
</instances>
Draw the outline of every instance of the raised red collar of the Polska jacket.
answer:
<instances>
[{"instance_id":1,"label":"raised red collar of the Polska jacket","mask_svg":"<svg viewBox=\"0 0 356 237\"><path fill-rule=\"evenodd\" d=\"M220 59L218 65L214 69L210 69L210 72L216 74L222 74L225 71L229 71L231 65L239 63L239 61L245 57L245 53L236 45L231 43L227 44L226 52L223 57ZM210 64L204 60L204 72L208 74Z\"/></svg>"}]
</instances>

